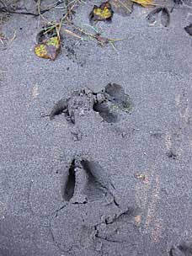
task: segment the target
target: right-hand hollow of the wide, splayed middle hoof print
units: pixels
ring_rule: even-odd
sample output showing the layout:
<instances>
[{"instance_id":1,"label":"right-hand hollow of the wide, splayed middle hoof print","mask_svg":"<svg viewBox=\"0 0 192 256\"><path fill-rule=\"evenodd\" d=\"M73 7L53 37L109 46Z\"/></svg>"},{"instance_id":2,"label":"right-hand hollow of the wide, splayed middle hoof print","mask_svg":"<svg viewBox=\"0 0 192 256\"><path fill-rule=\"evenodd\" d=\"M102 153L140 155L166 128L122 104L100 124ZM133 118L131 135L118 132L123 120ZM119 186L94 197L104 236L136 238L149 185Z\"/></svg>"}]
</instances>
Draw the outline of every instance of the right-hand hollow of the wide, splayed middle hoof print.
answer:
<instances>
[{"instance_id":1,"label":"right-hand hollow of the wide, splayed middle hoof print","mask_svg":"<svg viewBox=\"0 0 192 256\"><path fill-rule=\"evenodd\" d=\"M132 102L125 89L119 84L109 83L104 91L96 94L93 110L108 123L116 123L120 120L122 112L130 113Z\"/></svg>"}]
</instances>

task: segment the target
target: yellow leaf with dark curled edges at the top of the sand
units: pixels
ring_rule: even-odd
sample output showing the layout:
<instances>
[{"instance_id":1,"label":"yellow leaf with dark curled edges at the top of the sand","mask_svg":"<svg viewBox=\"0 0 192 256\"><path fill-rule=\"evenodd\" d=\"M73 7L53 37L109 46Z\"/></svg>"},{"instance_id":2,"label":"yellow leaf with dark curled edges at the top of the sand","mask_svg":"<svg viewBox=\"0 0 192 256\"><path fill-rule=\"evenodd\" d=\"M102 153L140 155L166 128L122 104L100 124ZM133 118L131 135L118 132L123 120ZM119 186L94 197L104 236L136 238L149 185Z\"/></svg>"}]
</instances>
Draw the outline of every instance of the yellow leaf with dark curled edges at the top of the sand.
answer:
<instances>
[{"instance_id":1,"label":"yellow leaf with dark curled edges at the top of the sand","mask_svg":"<svg viewBox=\"0 0 192 256\"><path fill-rule=\"evenodd\" d=\"M109 2L102 3L99 7L94 5L90 13L90 21L111 21L114 12Z\"/></svg>"}]
</instances>

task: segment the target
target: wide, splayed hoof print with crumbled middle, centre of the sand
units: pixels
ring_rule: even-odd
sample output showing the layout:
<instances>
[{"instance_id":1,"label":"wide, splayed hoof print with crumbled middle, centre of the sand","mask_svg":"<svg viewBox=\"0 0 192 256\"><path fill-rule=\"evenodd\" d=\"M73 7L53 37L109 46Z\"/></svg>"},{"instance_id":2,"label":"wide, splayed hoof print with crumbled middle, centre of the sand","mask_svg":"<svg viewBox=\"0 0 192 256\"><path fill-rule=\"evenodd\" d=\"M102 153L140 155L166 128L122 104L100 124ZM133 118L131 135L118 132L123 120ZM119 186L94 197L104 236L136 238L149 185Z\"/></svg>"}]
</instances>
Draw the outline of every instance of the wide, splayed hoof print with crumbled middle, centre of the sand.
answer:
<instances>
[{"instance_id":1,"label":"wide, splayed hoof print with crumbled middle, centre of the sand","mask_svg":"<svg viewBox=\"0 0 192 256\"><path fill-rule=\"evenodd\" d=\"M70 124L75 125L76 115L83 116L95 111L104 121L116 123L129 114L132 107L133 103L125 89L119 84L109 83L99 93L83 89L73 92L68 99L60 99L53 107L50 119L63 114Z\"/></svg>"}]
</instances>

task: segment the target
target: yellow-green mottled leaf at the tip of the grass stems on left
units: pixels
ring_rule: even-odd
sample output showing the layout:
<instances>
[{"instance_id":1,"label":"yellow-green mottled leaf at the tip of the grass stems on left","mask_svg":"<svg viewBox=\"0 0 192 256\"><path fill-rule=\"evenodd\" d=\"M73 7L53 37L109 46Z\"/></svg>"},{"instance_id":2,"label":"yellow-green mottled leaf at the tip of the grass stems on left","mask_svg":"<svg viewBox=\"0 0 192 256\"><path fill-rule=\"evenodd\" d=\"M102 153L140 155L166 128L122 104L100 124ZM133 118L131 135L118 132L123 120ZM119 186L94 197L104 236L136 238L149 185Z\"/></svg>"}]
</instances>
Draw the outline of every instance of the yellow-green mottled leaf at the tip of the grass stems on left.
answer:
<instances>
[{"instance_id":1,"label":"yellow-green mottled leaf at the tip of the grass stems on left","mask_svg":"<svg viewBox=\"0 0 192 256\"><path fill-rule=\"evenodd\" d=\"M35 55L44 59L54 61L60 50L60 40L58 36L44 40L41 44L35 45Z\"/></svg>"}]
</instances>

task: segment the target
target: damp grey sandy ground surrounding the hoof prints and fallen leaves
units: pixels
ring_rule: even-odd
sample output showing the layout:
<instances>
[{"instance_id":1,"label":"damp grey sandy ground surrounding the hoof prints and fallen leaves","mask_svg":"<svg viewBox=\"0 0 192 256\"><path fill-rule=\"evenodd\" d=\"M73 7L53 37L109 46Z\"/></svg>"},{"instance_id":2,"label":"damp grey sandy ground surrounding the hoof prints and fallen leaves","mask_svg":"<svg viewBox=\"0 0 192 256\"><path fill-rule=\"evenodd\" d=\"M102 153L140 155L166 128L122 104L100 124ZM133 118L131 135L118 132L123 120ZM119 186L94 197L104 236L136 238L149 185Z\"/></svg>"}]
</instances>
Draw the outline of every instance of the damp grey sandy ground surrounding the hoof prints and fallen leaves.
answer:
<instances>
[{"instance_id":1,"label":"damp grey sandy ground surrounding the hoof prints and fallen leaves","mask_svg":"<svg viewBox=\"0 0 192 256\"><path fill-rule=\"evenodd\" d=\"M95 3L77 8L76 24L89 24ZM168 28L149 25L148 8L115 13L97 27L127 38L116 51L67 35L56 61L34 54L41 19L15 14L3 24L3 34L16 37L0 51L1 256L166 256L191 241L189 11L175 8ZM132 104L115 123L93 110L90 93L109 83ZM75 123L47 116L61 98L70 99ZM86 204L72 204L65 187L71 172L74 189L77 159L86 163Z\"/></svg>"}]
</instances>

